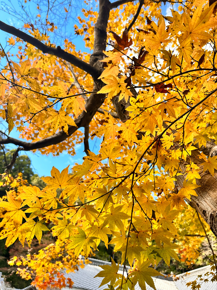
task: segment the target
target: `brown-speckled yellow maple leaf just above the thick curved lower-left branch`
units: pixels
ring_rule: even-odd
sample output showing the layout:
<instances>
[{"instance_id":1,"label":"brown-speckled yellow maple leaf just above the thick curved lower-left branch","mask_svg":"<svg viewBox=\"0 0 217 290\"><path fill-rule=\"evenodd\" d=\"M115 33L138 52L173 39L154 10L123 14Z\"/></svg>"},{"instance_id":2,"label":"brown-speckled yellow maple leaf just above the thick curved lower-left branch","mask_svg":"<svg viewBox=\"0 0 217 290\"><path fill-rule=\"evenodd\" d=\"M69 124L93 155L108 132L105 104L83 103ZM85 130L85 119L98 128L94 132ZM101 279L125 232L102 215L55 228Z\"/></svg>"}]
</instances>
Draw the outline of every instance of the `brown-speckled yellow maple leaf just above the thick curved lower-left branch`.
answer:
<instances>
[{"instance_id":1,"label":"brown-speckled yellow maple leaf just above the thick curved lower-left branch","mask_svg":"<svg viewBox=\"0 0 217 290\"><path fill-rule=\"evenodd\" d=\"M53 128L53 135L56 133L59 127L67 134L68 134L68 125L75 126L75 122L71 117L69 117L64 110L60 108L59 111L49 111L48 112L51 116L48 117L48 119L44 122L43 125L47 123L52 122L52 128Z\"/></svg>"}]
</instances>

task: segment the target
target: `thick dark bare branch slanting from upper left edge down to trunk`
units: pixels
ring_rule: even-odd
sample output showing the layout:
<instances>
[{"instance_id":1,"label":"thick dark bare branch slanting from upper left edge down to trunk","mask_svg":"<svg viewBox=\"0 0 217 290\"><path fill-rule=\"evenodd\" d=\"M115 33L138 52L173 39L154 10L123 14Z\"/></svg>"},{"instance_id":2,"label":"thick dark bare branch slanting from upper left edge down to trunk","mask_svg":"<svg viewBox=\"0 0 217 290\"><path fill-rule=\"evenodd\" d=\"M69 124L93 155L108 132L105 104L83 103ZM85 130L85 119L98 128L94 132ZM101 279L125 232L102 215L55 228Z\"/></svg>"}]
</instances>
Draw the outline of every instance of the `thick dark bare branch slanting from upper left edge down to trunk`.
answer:
<instances>
[{"instance_id":1,"label":"thick dark bare branch slanting from upper left edge down to trunk","mask_svg":"<svg viewBox=\"0 0 217 290\"><path fill-rule=\"evenodd\" d=\"M61 59L64 59L68 61L70 64L73 64L74 66L77 66L78 68L86 71L90 75L94 77L99 77L100 72L90 64L86 63L85 61L79 59L78 57L72 55L69 52L66 52L65 50L62 50L60 46L57 46L57 48L48 46L46 44L43 44L41 41L38 39L32 37L31 35L28 35L27 33L14 28L13 26L10 26L2 21L0 21L0 29L8 32L16 37L19 37L26 41L27 43L30 43L37 47L39 50L41 50L43 53L48 53L50 55L55 55L56 57L59 57Z\"/></svg>"}]
</instances>

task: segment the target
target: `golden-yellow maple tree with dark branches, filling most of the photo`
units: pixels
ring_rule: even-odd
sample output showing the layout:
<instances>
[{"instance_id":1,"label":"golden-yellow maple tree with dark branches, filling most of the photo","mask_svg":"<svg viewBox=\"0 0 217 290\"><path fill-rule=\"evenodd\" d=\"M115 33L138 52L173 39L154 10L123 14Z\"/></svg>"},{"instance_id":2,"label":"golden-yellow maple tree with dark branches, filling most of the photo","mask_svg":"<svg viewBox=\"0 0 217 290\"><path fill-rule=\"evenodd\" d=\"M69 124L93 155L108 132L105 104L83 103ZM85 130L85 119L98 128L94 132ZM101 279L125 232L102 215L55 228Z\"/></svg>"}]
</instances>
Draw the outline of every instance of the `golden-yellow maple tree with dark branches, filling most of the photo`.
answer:
<instances>
[{"instance_id":1,"label":"golden-yellow maple tree with dark branches, filling most of the photo","mask_svg":"<svg viewBox=\"0 0 217 290\"><path fill-rule=\"evenodd\" d=\"M170 16L162 12L167 2ZM17 146L1 176L8 191L0 201L0 238L8 247L17 239L30 246L34 236L40 242L43 231L56 237L37 255L10 261L28 266L18 271L38 289L71 287L61 270L76 269L80 253L88 257L101 240L122 251L124 265L123 275L114 261L104 266L102 284L155 289L151 276L159 275L154 268L162 259L191 263L204 230L217 236L216 2L98 4L83 8L74 25L90 53L69 39L62 47L52 43L58 28L48 14L21 30L0 21L11 34L8 46L17 48L17 58L0 50L0 117L8 123L0 144ZM11 137L14 128L19 139ZM102 140L97 155L88 141L95 136ZM83 163L72 174L69 166L61 173L53 167L43 190L10 175L19 151L74 155L81 142ZM214 275L214 253L210 261Z\"/></svg>"}]
</instances>

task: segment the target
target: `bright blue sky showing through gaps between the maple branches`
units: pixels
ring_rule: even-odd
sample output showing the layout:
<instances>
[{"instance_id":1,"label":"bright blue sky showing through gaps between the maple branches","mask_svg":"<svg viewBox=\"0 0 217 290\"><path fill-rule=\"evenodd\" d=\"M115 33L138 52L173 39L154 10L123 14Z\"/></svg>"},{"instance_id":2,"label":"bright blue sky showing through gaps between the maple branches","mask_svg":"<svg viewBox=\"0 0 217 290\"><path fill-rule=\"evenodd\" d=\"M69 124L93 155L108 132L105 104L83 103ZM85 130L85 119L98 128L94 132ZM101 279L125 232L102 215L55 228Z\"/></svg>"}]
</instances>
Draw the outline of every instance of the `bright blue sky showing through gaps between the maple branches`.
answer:
<instances>
[{"instance_id":1,"label":"bright blue sky showing through gaps between the maple branches","mask_svg":"<svg viewBox=\"0 0 217 290\"><path fill-rule=\"evenodd\" d=\"M24 1L20 1L20 3L24 3ZM59 1L57 1L59 2ZM67 1L66 1L67 2ZM92 1L90 1L92 2ZM39 1L39 3L43 4L43 0ZM80 8L82 5L82 0L76 1L76 6L73 7L73 11L71 12L71 16L73 17L73 24L75 23L74 21L76 21L76 16L77 15L81 15L80 12ZM34 4L33 1L27 1L27 11L32 14L32 19L34 19L34 16L36 16L36 14L38 14L38 10L36 9L36 5ZM45 8L45 6L42 5L42 8ZM67 8L67 6L66 6ZM16 18L15 13L14 12L18 12L20 14L20 19L22 18L22 16L25 18L25 14L22 11L21 7L19 6L19 0L12 0L12 1L4 1L1 2L1 9L4 10L9 10L10 14L7 12L2 12L1 11L1 20L4 21L5 23L15 26L16 28L21 28L23 25L23 21L19 20L19 16L18 18ZM14 10L14 12L13 12ZM44 15L44 13L47 12L46 9L44 9L45 12L42 12L42 16ZM55 11L54 11L55 12ZM64 14L63 14L64 15ZM56 21L58 22L58 17L60 17L61 14L58 14L56 16ZM55 17L54 14L50 15L50 17L53 19L53 17ZM61 17L60 17L61 18ZM48 17L48 20L49 19ZM34 24L34 23L33 23ZM56 24L56 23L55 23ZM65 30L61 30L59 33L59 36L56 37L56 39L53 39L53 41L58 44L58 45L62 45L62 42L64 41L64 38L67 34L69 35L69 39L70 41L72 41L78 50L82 50L82 51L87 51L87 49L84 48L84 42L82 41L81 37L74 35L74 30L73 30L73 24L70 23L70 21L68 22L68 24L66 25L66 29ZM58 24L57 24L58 26ZM62 36L62 37L61 37ZM8 37L11 37L11 35L1 31L0 34L0 42L1 45L3 47L6 46L7 44L7 40ZM6 50L7 51L7 50ZM16 49L14 49L14 52L16 52ZM1 66L4 64L1 64ZM2 122L2 124L0 124L2 131L5 131L5 129L7 128L7 123L6 122ZM14 138L19 138L19 132L16 132L16 129L13 129L12 132L10 133L11 137ZM24 140L25 141L25 140ZM100 146L100 140L98 138L95 137L94 140L89 140L89 147L90 150L97 153L99 150L99 146ZM8 149L12 149L12 148L16 148L15 145L10 144L5 146ZM58 168L60 171L62 171L62 169L64 169L65 167L67 167L69 164L69 168L71 168L75 163L82 163L82 158L84 156L86 156L86 154L84 153L84 144L77 144L75 145L75 151L76 151L76 155L75 156L71 156L69 154L67 154L67 152L61 153L59 156L53 156L52 154L49 155L42 155L40 152L36 152L36 153L32 153L31 151L21 151L21 155L25 154L27 156L29 156L29 158L32 161L32 169L35 173L37 173L39 176L47 176L50 175L50 171L52 169L52 166L55 166L56 168Z\"/></svg>"}]
</instances>

